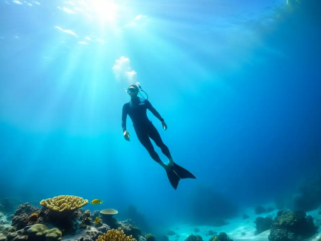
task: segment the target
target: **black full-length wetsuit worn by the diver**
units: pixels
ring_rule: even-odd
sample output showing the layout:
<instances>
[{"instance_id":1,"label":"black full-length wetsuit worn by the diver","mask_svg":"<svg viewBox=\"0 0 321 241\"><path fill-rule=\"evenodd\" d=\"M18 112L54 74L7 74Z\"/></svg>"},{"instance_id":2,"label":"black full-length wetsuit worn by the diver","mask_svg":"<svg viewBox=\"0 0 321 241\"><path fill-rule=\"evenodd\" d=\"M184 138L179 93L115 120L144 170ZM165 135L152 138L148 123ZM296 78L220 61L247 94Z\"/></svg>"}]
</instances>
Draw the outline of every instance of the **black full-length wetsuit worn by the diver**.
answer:
<instances>
[{"instance_id":1,"label":"black full-length wetsuit worn by the diver","mask_svg":"<svg viewBox=\"0 0 321 241\"><path fill-rule=\"evenodd\" d=\"M149 155L156 161L161 162L160 157L154 150L150 138L155 144L160 147L162 153L168 158L171 158L168 147L163 143L159 132L147 117L147 109L150 110L154 116L160 121L164 121L160 114L152 107L152 104L148 100L139 99L138 97L132 98L128 103L123 106L122 113L122 127L123 132L126 131L126 119L129 115L133 121L133 126L138 140L147 149Z\"/></svg>"}]
</instances>

